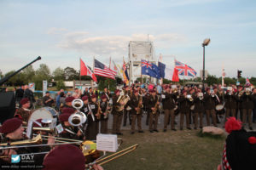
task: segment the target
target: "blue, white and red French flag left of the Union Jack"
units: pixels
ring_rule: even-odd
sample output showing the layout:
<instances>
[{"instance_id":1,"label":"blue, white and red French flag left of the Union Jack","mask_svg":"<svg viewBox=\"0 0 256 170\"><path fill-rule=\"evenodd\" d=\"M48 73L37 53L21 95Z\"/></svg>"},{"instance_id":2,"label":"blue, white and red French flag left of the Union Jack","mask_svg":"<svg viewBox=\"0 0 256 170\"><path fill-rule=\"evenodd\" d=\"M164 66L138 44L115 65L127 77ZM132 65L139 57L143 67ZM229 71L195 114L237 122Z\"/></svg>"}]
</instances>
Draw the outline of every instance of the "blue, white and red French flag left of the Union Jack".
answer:
<instances>
[{"instance_id":1,"label":"blue, white and red French flag left of the Union Jack","mask_svg":"<svg viewBox=\"0 0 256 170\"><path fill-rule=\"evenodd\" d=\"M158 62L158 68L160 71L160 77L171 80L172 82L179 82L177 75L178 70L175 67L166 66L165 64Z\"/></svg>"}]
</instances>

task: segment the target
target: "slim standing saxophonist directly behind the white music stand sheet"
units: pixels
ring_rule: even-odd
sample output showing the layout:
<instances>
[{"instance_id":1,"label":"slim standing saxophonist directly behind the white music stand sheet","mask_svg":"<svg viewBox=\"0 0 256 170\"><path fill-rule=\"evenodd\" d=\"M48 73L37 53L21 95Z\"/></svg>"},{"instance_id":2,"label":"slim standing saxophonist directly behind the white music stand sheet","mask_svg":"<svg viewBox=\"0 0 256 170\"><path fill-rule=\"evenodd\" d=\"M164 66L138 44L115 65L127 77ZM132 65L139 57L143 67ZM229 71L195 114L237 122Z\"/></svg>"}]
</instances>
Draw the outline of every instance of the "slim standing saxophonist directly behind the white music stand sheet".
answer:
<instances>
[{"instance_id":1,"label":"slim standing saxophonist directly behind the white music stand sheet","mask_svg":"<svg viewBox=\"0 0 256 170\"><path fill-rule=\"evenodd\" d=\"M102 95L101 97L101 103L100 103L100 107L101 107L101 133L108 133L108 111L110 109L109 105L108 105L108 98L106 95Z\"/></svg>"}]
</instances>

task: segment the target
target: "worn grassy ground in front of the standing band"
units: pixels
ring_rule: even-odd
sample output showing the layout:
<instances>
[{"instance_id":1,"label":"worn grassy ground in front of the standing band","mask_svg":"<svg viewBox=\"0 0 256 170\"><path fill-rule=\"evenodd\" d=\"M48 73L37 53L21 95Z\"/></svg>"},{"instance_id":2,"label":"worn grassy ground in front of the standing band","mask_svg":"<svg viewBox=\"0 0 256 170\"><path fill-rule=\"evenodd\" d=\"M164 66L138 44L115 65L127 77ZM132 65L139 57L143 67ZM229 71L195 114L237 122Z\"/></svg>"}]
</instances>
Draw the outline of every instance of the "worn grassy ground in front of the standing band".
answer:
<instances>
[{"instance_id":1,"label":"worn grassy ground in front of the standing band","mask_svg":"<svg viewBox=\"0 0 256 170\"><path fill-rule=\"evenodd\" d=\"M166 133L125 131L119 150L139 144L137 150L104 164L104 169L118 170L201 170L217 169L225 138L199 137L199 130Z\"/></svg>"}]
</instances>

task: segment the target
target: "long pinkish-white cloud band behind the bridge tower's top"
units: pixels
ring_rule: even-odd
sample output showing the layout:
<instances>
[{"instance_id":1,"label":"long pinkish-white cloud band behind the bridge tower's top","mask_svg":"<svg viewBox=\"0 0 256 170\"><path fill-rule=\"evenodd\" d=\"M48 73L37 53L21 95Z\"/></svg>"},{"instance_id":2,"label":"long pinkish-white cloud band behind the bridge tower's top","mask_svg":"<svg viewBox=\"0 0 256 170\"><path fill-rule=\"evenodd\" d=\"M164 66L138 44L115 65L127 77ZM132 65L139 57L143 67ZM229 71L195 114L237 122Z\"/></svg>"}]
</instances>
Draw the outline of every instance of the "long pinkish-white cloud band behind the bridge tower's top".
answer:
<instances>
[{"instance_id":1,"label":"long pinkish-white cloud band behind the bridge tower's top","mask_svg":"<svg viewBox=\"0 0 256 170\"><path fill-rule=\"evenodd\" d=\"M132 34L131 36L102 36L95 37L86 31L67 32L63 41L58 44L60 48L77 50L93 55L126 55L128 54L128 43L130 41L153 41L157 45L168 46L173 42L183 42L186 40L179 34Z\"/></svg>"}]
</instances>

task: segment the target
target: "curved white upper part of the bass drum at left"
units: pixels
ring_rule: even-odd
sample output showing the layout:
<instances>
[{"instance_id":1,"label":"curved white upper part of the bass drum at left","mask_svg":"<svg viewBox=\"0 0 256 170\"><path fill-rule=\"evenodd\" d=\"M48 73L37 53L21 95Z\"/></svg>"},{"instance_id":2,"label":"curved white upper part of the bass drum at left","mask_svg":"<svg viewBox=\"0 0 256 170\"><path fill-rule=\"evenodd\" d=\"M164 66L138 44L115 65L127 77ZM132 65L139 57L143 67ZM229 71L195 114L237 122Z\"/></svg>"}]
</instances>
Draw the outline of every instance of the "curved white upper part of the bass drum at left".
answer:
<instances>
[{"instance_id":1,"label":"curved white upper part of the bass drum at left","mask_svg":"<svg viewBox=\"0 0 256 170\"><path fill-rule=\"evenodd\" d=\"M58 114L57 114L57 111L55 111L55 109L53 109L51 107L43 107L43 108L40 108L36 111L33 111L30 118L29 118L29 121L30 120L37 120L37 119L51 120L51 119L54 119L57 116L58 116Z\"/></svg>"}]
</instances>

